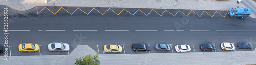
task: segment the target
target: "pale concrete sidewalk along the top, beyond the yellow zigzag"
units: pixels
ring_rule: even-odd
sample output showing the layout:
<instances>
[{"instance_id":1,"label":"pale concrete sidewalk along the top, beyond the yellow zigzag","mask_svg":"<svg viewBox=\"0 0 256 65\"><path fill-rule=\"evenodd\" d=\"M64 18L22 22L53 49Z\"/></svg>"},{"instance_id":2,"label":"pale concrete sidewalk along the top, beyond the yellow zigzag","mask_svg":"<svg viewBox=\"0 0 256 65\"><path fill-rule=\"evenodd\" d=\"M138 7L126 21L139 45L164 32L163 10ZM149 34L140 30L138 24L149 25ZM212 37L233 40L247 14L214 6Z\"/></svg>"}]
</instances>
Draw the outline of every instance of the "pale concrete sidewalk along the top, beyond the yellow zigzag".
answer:
<instances>
[{"instance_id":1,"label":"pale concrete sidewalk along the top, beyond the yellow zigzag","mask_svg":"<svg viewBox=\"0 0 256 65\"><path fill-rule=\"evenodd\" d=\"M243 0L205 1L205 0L1 0L0 5L7 5L15 10L26 11L35 6L75 6L75 7L117 7L117 8L150 8L150 9L188 9L188 10L229 10L232 8L249 7L252 9L252 18L256 18L256 2Z\"/></svg>"}]
</instances>

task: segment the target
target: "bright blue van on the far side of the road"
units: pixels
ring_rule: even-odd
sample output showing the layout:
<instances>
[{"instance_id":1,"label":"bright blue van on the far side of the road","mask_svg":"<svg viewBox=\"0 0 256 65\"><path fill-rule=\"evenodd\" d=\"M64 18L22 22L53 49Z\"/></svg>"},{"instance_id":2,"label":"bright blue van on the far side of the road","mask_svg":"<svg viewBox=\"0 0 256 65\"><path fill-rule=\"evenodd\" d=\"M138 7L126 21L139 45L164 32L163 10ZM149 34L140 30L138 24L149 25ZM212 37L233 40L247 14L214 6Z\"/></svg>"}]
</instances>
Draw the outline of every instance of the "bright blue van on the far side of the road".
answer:
<instances>
[{"instance_id":1,"label":"bright blue van on the far side of the road","mask_svg":"<svg viewBox=\"0 0 256 65\"><path fill-rule=\"evenodd\" d=\"M228 14L231 17L244 18L244 17L248 17L249 15L251 15L251 9L250 8L232 8L232 9L228 10Z\"/></svg>"}]
</instances>

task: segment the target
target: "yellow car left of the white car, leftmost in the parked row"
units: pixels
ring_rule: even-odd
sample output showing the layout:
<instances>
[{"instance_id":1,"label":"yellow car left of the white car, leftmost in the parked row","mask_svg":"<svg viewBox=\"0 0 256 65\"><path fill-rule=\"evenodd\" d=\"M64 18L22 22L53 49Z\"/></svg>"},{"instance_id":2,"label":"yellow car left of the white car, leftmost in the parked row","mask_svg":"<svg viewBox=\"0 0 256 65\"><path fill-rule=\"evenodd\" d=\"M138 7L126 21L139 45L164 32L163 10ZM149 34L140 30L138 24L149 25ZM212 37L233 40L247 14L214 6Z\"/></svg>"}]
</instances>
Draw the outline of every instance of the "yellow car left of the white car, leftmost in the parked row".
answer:
<instances>
[{"instance_id":1,"label":"yellow car left of the white car, leftmost in the parked row","mask_svg":"<svg viewBox=\"0 0 256 65\"><path fill-rule=\"evenodd\" d=\"M18 50L20 52L38 52L39 46L34 43L22 43L18 45Z\"/></svg>"}]
</instances>

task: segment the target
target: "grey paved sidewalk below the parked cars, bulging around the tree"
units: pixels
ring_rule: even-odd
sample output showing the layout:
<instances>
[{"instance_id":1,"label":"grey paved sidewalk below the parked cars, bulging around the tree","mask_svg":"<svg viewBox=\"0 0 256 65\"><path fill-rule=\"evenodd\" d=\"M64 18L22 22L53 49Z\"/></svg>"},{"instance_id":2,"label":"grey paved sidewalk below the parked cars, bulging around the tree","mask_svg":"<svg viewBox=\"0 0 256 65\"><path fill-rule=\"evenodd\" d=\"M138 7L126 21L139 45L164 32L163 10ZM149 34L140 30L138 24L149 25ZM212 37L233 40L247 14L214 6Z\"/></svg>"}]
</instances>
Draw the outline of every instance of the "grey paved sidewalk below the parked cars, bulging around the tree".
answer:
<instances>
[{"instance_id":1,"label":"grey paved sidewalk below the parked cars, bulging around the tree","mask_svg":"<svg viewBox=\"0 0 256 65\"><path fill-rule=\"evenodd\" d=\"M72 65L75 58L95 55L88 45L78 45L70 55L9 56L4 65ZM100 54L100 64L255 64L256 51L190 52L190 53L146 53L146 54ZM4 59L3 56L0 59Z\"/></svg>"}]
</instances>

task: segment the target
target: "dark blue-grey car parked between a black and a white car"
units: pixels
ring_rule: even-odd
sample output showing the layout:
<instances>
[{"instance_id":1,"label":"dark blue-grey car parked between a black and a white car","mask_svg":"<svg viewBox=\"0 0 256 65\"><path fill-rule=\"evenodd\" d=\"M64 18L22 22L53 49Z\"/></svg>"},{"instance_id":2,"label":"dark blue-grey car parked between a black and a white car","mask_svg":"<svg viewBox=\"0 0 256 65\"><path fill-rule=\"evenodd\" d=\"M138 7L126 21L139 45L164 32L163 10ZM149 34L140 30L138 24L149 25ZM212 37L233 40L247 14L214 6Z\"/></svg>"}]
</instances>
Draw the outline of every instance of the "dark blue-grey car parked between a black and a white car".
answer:
<instances>
[{"instance_id":1,"label":"dark blue-grey car parked between a black and a white car","mask_svg":"<svg viewBox=\"0 0 256 65\"><path fill-rule=\"evenodd\" d=\"M156 44L155 47L157 51L170 51L170 46L167 44Z\"/></svg>"}]
</instances>

